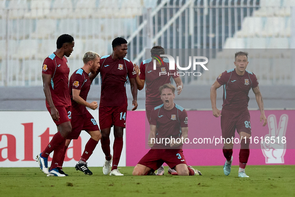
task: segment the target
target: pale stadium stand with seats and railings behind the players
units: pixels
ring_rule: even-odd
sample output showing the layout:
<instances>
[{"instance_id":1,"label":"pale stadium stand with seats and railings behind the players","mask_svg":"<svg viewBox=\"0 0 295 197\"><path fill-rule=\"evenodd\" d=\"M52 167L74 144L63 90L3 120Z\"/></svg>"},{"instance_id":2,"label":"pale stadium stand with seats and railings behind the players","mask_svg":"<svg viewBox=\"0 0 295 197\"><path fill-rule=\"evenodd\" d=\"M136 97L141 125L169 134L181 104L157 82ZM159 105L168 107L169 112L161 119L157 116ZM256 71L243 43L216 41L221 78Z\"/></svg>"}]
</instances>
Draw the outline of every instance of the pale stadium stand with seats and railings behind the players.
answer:
<instances>
[{"instance_id":1,"label":"pale stadium stand with seats and railings behind the players","mask_svg":"<svg viewBox=\"0 0 295 197\"><path fill-rule=\"evenodd\" d=\"M71 71L88 50L111 53L117 36L127 39L127 58L137 64L153 45L217 49L205 52L215 71L183 76L186 84L211 84L221 69L216 63L234 65L224 48L282 48L291 62L293 6L294 0L0 0L0 86L42 85L42 62L63 33L75 39ZM294 66L274 68L281 57L264 54L264 66L252 69L262 84L295 84Z\"/></svg>"}]
</instances>

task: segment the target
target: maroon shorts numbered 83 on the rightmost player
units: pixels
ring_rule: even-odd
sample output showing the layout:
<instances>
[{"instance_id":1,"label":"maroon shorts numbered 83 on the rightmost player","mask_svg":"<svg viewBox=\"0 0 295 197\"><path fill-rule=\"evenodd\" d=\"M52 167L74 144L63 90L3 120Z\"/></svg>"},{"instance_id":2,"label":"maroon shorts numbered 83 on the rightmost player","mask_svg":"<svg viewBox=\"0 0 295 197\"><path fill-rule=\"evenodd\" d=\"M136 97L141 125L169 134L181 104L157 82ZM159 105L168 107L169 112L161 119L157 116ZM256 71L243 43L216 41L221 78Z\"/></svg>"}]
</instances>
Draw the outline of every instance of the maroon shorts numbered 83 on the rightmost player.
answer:
<instances>
[{"instance_id":1,"label":"maroon shorts numbered 83 on the rightmost player","mask_svg":"<svg viewBox=\"0 0 295 197\"><path fill-rule=\"evenodd\" d=\"M249 110L221 111L221 131L223 138L235 137L235 131L251 134L251 122Z\"/></svg>"}]
</instances>

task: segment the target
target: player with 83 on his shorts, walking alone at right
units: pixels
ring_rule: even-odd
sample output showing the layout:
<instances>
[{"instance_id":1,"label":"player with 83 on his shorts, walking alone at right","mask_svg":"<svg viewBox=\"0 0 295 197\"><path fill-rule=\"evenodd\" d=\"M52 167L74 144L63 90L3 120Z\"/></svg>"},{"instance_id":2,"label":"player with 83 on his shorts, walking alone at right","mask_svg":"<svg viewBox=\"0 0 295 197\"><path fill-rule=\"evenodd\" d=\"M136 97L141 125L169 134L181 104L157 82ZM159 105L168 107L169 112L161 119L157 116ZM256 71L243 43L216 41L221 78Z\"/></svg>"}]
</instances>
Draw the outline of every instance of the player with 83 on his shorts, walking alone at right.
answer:
<instances>
[{"instance_id":1,"label":"player with 83 on his shorts, walking alone at right","mask_svg":"<svg viewBox=\"0 0 295 197\"><path fill-rule=\"evenodd\" d=\"M258 80L253 72L246 70L249 63L248 52L239 51L235 54L236 68L221 73L210 89L210 98L215 117L221 116L222 137L232 138L235 131L240 135L241 149L239 154L240 168L239 177L249 177L245 173L245 167L249 158L249 143L251 136L250 113L248 110L249 90L252 88L260 109L260 122L264 120L263 126L267 124L264 112L262 94L259 90ZM222 111L216 107L217 88L224 86ZM233 161L234 142L224 143L223 154L226 162L223 167L225 175L231 172Z\"/></svg>"}]
</instances>

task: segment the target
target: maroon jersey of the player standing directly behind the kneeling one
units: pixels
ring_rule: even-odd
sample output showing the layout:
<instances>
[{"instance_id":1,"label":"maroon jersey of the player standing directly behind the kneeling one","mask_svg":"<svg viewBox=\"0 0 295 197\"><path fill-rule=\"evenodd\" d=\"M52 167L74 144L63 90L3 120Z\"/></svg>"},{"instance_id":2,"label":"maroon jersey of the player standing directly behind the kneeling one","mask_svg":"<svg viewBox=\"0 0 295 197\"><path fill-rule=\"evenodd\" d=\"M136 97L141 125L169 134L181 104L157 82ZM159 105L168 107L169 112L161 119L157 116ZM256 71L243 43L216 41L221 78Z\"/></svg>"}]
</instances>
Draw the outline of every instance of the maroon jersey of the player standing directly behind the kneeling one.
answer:
<instances>
[{"instance_id":1,"label":"maroon jersey of the player standing directly behind the kneeling one","mask_svg":"<svg viewBox=\"0 0 295 197\"><path fill-rule=\"evenodd\" d=\"M140 63L139 78L145 80L146 104L160 104L162 100L159 87L165 83L170 83L171 76L173 78L179 77L176 65L175 69L169 69L169 60L167 58L163 58L162 64L161 67L156 67L154 70L152 58Z\"/></svg>"}]
</instances>

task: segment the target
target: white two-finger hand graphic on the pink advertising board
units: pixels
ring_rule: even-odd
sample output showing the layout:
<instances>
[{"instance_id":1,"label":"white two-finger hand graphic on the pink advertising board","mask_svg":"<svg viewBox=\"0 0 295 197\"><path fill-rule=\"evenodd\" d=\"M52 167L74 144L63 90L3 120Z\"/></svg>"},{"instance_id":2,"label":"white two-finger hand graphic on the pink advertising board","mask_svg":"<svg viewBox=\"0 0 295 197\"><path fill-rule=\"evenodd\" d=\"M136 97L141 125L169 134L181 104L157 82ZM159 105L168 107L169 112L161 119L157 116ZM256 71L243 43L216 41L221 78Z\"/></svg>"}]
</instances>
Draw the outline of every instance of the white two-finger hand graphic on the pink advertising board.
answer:
<instances>
[{"instance_id":1,"label":"white two-finger hand graphic on the pink advertising board","mask_svg":"<svg viewBox=\"0 0 295 197\"><path fill-rule=\"evenodd\" d=\"M283 143L284 141L282 138L286 137L285 134L288 124L288 115L281 115L278 127L276 116L274 114L269 115L268 121L269 134L265 135L261 144L262 152L266 157L266 163L284 163L286 143ZM266 143L266 139L269 139L270 142Z\"/></svg>"}]
</instances>

